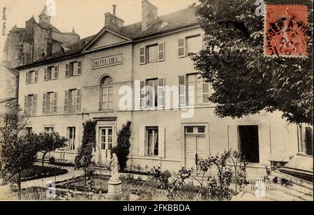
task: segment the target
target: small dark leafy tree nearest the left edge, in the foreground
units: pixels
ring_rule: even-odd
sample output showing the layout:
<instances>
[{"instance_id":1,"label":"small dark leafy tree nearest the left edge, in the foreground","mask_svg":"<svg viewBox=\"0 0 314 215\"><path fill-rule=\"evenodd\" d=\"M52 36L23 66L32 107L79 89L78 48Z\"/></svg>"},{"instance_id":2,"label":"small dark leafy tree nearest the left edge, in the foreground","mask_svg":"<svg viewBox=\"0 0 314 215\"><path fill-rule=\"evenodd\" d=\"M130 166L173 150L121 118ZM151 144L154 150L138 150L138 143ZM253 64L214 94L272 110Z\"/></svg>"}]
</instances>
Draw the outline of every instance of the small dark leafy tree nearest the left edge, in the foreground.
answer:
<instances>
[{"instance_id":1,"label":"small dark leafy tree nearest the left edge, in the foreground","mask_svg":"<svg viewBox=\"0 0 314 215\"><path fill-rule=\"evenodd\" d=\"M1 148L1 158L3 159L2 177L8 177L9 181L15 181L19 188L19 198L21 198L22 171L33 166L37 160L38 149L36 147L37 138L34 135L10 138Z\"/></svg>"}]
</instances>

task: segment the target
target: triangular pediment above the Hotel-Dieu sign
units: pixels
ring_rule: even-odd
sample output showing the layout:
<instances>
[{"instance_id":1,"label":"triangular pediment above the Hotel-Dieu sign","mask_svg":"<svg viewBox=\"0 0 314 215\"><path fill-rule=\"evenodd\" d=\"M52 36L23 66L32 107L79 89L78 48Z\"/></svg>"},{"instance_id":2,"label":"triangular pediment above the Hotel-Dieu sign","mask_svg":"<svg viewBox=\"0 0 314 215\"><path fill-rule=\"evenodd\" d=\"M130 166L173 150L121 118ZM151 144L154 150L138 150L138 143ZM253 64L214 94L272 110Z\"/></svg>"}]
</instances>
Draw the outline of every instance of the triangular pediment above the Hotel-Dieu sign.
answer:
<instances>
[{"instance_id":1,"label":"triangular pediment above the Hotel-Dieu sign","mask_svg":"<svg viewBox=\"0 0 314 215\"><path fill-rule=\"evenodd\" d=\"M84 51L98 50L130 41L130 38L109 29L103 29L89 42Z\"/></svg>"}]
</instances>

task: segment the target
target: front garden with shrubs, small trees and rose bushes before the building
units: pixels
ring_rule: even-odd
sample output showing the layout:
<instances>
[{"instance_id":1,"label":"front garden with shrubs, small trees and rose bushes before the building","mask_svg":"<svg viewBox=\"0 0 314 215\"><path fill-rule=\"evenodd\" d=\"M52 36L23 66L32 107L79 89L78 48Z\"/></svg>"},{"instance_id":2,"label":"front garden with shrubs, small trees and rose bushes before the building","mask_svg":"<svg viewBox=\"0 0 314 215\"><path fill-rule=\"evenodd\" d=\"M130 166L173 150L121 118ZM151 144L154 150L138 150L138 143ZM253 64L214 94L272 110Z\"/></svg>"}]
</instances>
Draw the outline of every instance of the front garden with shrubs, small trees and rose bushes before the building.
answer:
<instances>
[{"instance_id":1,"label":"front garden with shrubs, small trees and rose bushes before the building","mask_svg":"<svg viewBox=\"0 0 314 215\"><path fill-rule=\"evenodd\" d=\"M198 161L197 171L181 168L177 172L154 167L145 174L126 168L130 148L131 123L128 121L117 133L112 154L117 155L121 180L121 195L109 197L110 175L98 175L91 162L96 150L95 121L84 124L82 144L77 154L82 158L84 172L79 177L57 181L50 187L22 188L22 181L65 174L67 170L44 165L45 155L66 147L67 139L58 133L18 135L27 125L19 111L3 117L15 129L1 128L0 176L3 184L11 186L13 198L19 200L231 200L246 185L245 158L237 151L225 151ZM41 165L34 165L41 153ZM53 163L50 161L50 163ZM124 172L124 173L121 173ZM125 173L129 172L129 173ZM47 193L48 192L48 193Z\"/></svg>"}]
</instances>

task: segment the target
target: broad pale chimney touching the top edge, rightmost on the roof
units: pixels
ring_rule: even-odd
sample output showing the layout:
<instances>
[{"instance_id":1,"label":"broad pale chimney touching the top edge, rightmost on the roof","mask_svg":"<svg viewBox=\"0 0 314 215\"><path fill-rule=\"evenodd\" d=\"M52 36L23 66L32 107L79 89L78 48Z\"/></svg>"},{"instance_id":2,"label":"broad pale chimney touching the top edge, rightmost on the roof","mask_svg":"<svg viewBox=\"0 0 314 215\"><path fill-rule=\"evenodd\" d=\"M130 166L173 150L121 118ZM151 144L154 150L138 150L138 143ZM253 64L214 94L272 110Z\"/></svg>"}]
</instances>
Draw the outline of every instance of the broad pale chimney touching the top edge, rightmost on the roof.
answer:
<instances>
[{"instance_id":1,"label":"broad pale chimney touching the top edge, rightmost on the roof","mask_svg":"<svg viewBox=\"0 0 314 215\"><path fill-rule=\"evenodd\" d=\"M142 31L157 20L157 8L147 0L142 0Z\"/></svg>"}]
</instances>

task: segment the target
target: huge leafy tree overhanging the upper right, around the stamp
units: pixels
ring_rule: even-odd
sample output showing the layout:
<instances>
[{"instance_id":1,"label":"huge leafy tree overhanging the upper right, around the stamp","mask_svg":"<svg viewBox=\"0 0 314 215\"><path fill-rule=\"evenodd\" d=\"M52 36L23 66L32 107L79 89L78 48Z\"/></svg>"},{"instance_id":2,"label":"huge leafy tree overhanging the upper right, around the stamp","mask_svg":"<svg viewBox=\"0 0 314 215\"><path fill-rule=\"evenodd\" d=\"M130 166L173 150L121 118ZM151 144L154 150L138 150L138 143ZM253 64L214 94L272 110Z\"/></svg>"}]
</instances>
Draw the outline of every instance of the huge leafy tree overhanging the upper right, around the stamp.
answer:
<instances>
[{"instance_id":1,"label":"huge leafy tree overhanging the upper right, around the stamp","mask_svg":"<svg viewBox=\"0 0 314 215\"><path fill-rule=\"evenodd\" d=\"M313 124L313 1L265 0L308 6L308 58L264 57L264 17L255 15L255 0L200 3L195 10L207 49L190 57L214 89L216 115L279 110L287 121Z\"/></svg>"}]
</instances>

